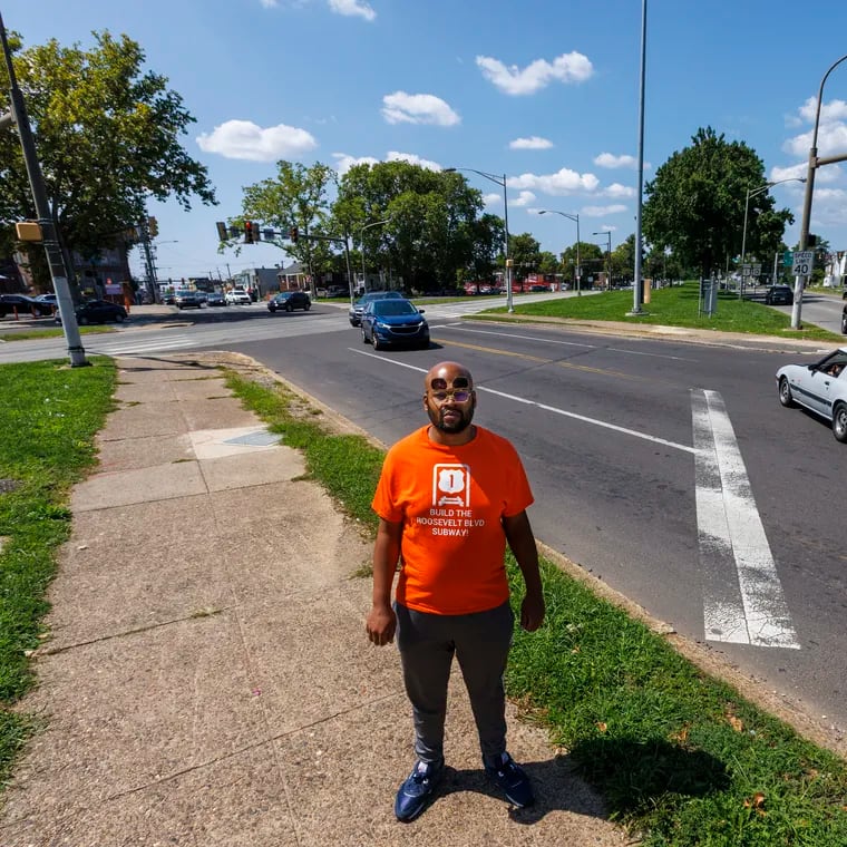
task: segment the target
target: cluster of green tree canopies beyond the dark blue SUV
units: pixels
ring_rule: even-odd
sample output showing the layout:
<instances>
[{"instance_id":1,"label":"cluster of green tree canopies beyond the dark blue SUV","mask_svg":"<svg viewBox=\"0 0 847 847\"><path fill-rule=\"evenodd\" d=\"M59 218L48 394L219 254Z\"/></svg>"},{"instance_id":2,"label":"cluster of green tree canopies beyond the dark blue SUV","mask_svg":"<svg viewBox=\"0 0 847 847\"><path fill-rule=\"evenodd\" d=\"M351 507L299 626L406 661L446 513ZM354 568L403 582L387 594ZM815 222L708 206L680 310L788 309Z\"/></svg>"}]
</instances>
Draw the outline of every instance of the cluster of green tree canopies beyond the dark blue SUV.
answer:
<instances>
[{"instance_id":1,"label":"cluster of green tree canopies beyond the dark blue SUV","mask_svg":"<svg viewBox=\"0 0 847 847\"><path fill-rule=\"evenodd\" d=\"M296 225L298 243L279 244L314 273L338 266L333 254L343 244L309 235L349 236L357 267L363 255L366 270L388 267L418 291L490 278L502 256L503 221L480 215L481 193L460 174L408 162L359 164L340 178L320 163L281 160L276 168L275 177L244 189L243 218L283 234Z\"/></svg>"}]
</instances>

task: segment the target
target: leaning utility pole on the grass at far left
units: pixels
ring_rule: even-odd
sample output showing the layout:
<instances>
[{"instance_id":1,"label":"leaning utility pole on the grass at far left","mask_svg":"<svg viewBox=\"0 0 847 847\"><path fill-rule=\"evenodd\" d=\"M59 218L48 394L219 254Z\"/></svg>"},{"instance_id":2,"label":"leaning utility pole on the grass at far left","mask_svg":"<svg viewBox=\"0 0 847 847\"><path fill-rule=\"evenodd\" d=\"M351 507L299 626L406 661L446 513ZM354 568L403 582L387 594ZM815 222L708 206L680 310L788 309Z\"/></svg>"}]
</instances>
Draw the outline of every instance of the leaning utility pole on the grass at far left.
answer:
<instances>
[{"instance_id":1,"label":"leaning utility pole on the grass at far left","mask_svg":"<svg viewBox=\"0 0 847 847\"><path fill-rule=\"evenodd\" d=\"M14 76L14 66L12 64L9 42L6 38L6 27L3 26L2 16L0 16L0 42L2 42L6 68L9 72L9 95L11 103L11 113L0 116L0 127L13 123L18 127L20 146L23 152L23 162L27 166L29 185L32 192L32 202L38 215L38 224L41 227L41 240L47 254L47 263L50 267L53 291L61 318L61 327L65 332L65 339L68 343L68 356L70 357L71 368L80 368L89 364L86 360L86 351L82 347L82 340L79 337L79 327L77 325L77 314L74 310L74 301L70 296L70 286L68 284L68 273L65 269L65 257L57 237L53 216L50 210L50 203L47 199L47 188L45 178L41 173L41 165L38 162L38 152L36 142L32 137L32 129L27 116L27 107L23 103L23 96L18 87L18 78Z\"/></svg>"}]
</instances>

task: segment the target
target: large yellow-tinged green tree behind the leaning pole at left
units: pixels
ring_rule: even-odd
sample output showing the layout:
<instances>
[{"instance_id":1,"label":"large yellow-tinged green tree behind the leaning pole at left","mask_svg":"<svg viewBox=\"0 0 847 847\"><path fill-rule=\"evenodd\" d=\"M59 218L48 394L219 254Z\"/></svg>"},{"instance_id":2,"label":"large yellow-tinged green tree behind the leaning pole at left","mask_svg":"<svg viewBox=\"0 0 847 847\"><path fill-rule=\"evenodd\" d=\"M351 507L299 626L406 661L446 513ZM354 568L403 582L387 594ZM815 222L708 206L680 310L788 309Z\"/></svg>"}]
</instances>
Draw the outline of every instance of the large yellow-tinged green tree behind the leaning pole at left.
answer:
<instances>
[{"instance_id":1,"label":"large yellow-tinged green tree behind the leaning pole at left","mask_svg":"<svg viewBox=\"0 0 847 847\"><path fill-rule=\"evenodd\" d=\"M185 210L193 195L216 202L205 166L179 143L195 120L181 96L144 71L145 53L127 36L94 38L89 50L55 39L23 50L10 38L57 232L85 260L120 241L150 197L175 197ZM0 88L9 88L4 66ZM0 132L0 228L36 216L17 133ZM43 250L23 250L45 284Z\"/></svg>"}]
</instances>

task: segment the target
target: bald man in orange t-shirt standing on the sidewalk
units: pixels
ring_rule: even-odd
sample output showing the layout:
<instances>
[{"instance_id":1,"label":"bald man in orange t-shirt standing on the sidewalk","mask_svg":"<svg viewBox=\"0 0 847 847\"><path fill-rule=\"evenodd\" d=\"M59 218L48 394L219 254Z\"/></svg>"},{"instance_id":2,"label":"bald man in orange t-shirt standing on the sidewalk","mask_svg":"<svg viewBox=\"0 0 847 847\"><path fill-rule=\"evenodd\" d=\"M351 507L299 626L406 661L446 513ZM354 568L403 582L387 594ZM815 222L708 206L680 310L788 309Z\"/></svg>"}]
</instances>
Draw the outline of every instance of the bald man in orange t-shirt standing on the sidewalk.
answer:
<instances>
[{"instance_id":1,"label":"bald man in orange t-shirt standing on the sidewalk","mask_svg":"<svg viewBox=\"0 0 847 847\"><path fill-rule=\"evenodd\" d=\"M418 761L395 801L403 821L426 808L442 775L454 654L486 773L515 806L534 801L526 773L506 751L503 688L514 627L506 543L526 586L520 625L533 632L544 621L538 554L526 515L533 495L512 444L471 422L476 401L467 368L456 362L431 368L424 393L430 422L389 450L373 497L380 520L367 632L373 644L383 645L397 631L415 719Z\"/></svg>"}]
</instances>

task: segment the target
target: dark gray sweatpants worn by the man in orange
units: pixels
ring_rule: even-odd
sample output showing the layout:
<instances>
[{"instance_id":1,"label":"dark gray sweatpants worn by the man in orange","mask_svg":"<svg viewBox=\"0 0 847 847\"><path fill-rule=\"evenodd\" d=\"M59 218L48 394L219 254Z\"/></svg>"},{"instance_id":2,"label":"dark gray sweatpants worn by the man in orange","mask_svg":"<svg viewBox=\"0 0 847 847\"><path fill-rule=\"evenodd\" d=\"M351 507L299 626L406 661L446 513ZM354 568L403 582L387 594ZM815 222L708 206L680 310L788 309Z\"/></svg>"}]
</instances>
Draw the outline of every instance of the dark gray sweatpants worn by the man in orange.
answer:
<instances>
[{"instance_id":1,"label":"dark gray sweatpants worn by the man in orange","mask_svg":"<svg viewBox=\"0 0 847 847\"><path fill-rule=\"evenodd\" d=\"M447 683L454 654L470 698L486 760L506 750L503 674L515 625L508 603L467 615L435 615L395 603L397 645L415 718L415 752L421 761L444 758Z\"/></svg>"}]
</instances>

